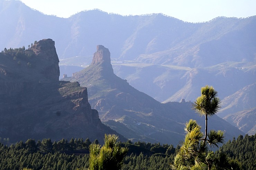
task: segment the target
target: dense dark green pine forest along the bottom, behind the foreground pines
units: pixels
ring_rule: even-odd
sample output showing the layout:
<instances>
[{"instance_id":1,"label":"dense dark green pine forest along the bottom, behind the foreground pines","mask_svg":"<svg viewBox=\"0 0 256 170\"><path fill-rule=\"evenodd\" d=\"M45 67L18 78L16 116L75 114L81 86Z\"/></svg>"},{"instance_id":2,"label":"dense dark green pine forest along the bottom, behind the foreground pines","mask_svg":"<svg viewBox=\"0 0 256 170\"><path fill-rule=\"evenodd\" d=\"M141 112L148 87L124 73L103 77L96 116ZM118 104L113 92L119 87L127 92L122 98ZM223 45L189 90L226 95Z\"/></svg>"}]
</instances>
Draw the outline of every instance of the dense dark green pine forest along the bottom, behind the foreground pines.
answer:
<instances>
[{"instance_id":1,"label":"dense dark green pine forest along the bottom, behind the foreground pines","mask_svg":"<svg viewBox=\"0 0 256 170\"><path fill-rule=\"evenodd\" d=\"M256 169L255 135L228 141L216 152L216 157L226 153L241 163L244 170ZM70 170L89 166L89 146L98 144L98 140L62 139L52 142L51 139L35 141L28 139L10 146L0 144L0 169L20 170L24 167L33 170ZM168 170L173 163L176 149L173 145L145 142L119 142L121 147L128 148L122 170Z\"/></svg>"}]
</instances>

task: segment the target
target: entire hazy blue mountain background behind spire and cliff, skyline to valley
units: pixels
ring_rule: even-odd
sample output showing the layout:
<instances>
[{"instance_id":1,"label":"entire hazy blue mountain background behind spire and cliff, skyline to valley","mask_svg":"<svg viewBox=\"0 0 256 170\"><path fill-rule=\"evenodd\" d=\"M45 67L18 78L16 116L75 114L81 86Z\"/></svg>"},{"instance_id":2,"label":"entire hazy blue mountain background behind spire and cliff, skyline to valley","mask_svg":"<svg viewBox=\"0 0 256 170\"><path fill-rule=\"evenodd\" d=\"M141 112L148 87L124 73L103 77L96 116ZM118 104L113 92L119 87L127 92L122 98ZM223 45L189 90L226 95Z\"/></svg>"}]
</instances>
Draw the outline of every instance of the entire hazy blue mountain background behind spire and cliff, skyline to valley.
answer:
<instances>
[{"instance_id":1,"label":"entire hazy blue mountain background behind spire and cliff, skyline to valley","mask_svg":"<svg viewBox=\"0 0 256 170\"><path fill-rule=\"evenodd\" d=\"M58 18L20 1L0 0L0 19L0 49L54 39L61 77L89 66L95 46L103 44L111 49L114 73L159 102L194 101L208 84L219 92L222 118L256 107L255 88L247 88L255 86L256 16L189 23L161 13L121 16L91 10ZM235 96L239 100L230 100ZM253 119L244 115L248 122ZM248 126L254 134L255 122Z\"/></svg>"}]
</instances>

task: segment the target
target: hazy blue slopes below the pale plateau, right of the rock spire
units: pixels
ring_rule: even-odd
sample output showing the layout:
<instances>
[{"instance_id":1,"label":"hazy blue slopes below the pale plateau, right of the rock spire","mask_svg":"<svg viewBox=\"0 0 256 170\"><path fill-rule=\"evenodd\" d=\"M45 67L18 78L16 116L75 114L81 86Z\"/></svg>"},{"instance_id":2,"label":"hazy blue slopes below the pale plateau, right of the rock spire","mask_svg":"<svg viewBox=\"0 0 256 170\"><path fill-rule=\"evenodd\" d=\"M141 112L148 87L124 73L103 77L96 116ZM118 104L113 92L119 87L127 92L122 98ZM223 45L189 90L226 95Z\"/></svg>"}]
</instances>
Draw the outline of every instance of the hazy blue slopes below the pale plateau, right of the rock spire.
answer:
<instances>
[{"instance_id":1,"label":"hazy blue slopes below the pale plateau, right of the rock spire","mask_svg":"<svg viewBox=\"0 0 256 170\"><path fill-rule=\"evenodd\" d=\"M255 64L252 62L228 62L200 69L170 65L113 63L114 72L118 76L126 79L139 91L161 102L181 99L193 101L200 96L200 91L197 89L205 84L213 86L222 100L255 82L254 67ZM231 102L230 100L229 104Z\"/></svg>"}]
</instances>

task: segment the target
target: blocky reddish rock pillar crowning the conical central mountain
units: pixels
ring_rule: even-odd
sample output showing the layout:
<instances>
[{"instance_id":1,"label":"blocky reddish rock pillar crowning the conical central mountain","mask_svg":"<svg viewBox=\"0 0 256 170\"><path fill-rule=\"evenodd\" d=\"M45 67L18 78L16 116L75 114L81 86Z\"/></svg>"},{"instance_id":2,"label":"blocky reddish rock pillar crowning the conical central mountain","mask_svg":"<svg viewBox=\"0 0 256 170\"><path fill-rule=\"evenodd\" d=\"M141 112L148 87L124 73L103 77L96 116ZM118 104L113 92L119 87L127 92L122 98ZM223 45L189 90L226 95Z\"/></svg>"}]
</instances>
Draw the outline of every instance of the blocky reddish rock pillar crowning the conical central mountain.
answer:
<instances>
[{"instance_id":1,"label":"blocky reddish rock pillar crowning the conical central mountain","mask_svg":"<svg viewBox=\"0 0 256 170\"><path fill-rule=\"evenodd\" d=\"M93 54L92 64L98 64L98 63L110 63L110 52L107 48L105 48L102 45L97 46L97 51Z\"/></svg>"}]
</instances>

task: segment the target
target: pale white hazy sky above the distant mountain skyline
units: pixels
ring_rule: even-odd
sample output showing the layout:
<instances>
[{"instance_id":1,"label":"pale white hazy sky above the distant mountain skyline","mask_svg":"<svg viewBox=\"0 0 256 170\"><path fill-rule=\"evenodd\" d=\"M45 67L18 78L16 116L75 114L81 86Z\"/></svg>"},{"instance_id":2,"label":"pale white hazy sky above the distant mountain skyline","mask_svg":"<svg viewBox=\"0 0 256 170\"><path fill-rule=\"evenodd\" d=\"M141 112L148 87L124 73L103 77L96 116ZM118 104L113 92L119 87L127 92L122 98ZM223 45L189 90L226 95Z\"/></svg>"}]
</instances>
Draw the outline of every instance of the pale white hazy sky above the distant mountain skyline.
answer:
<instances>
[{"instance_id":1,"label":"pale white hazy sky above the distant mountain skyline","mask_svg":"<svg viewBox=\"0 0 256 170\"><path fill-rule=\"evenodd\" d=\"M21 0L45 14L68 18L83 11L100 9L121 15L163 13L188 22L213 18L245 18L256 15L256 0Z\"/></svg>"}]
</instances>

